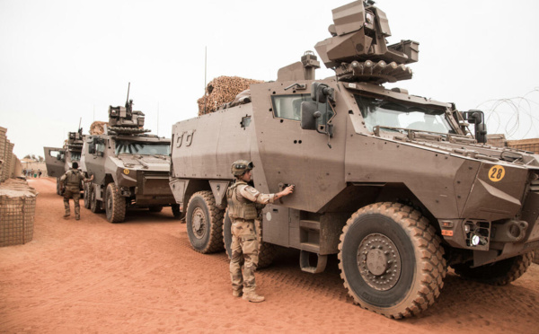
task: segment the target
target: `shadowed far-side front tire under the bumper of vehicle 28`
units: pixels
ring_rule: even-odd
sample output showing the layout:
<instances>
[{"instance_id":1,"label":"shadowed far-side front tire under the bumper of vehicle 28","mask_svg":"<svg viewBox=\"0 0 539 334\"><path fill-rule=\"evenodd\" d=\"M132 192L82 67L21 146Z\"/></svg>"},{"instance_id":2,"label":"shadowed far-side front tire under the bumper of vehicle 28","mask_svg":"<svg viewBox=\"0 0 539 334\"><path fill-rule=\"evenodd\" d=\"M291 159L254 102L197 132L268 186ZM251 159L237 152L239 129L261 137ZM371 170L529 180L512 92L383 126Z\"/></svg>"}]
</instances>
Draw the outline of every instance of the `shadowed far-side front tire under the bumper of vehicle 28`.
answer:
<instances>
[{"instance_id":1,"label":"shadowed far-side front tire under the bumper of vehicle 28","mask_svg":"<svg viewBox=\"0 0 539 334\"><path fill-rule=\"evenodd\" d=\"M476 268L470 268L471 263L460 263L451 267L455 269L455 273L460 277L473 279L492 286L507 286L526 273L533 259L534 253L529 252Z\"/></svg>"}]
</instances>

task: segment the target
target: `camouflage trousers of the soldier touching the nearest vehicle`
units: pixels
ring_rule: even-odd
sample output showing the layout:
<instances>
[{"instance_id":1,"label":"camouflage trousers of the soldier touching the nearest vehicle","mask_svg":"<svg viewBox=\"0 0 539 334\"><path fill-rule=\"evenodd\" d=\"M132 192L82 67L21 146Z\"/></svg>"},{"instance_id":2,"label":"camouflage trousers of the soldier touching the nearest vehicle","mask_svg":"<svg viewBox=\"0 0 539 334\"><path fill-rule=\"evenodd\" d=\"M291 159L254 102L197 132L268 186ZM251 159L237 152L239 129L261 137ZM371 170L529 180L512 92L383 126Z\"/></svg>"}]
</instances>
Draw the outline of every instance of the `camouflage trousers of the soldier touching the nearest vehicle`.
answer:
<instances>
[{"instance_id":1,"label":"camouflage trousers of the soldier touching the nearest vehicle","mask_svg":"<svg viewBox=\"0 0 539 334\"><path fill-rule=\"evenodd\" d=\"M254 232L254 221L235 219L233 222L232 259L230 259L232 288L233 290L240 291L243 289L244 294L249 294L254 292L256 287L254 271L258 266L259 257L258 241Z\"/></svg>"}]
</instances>

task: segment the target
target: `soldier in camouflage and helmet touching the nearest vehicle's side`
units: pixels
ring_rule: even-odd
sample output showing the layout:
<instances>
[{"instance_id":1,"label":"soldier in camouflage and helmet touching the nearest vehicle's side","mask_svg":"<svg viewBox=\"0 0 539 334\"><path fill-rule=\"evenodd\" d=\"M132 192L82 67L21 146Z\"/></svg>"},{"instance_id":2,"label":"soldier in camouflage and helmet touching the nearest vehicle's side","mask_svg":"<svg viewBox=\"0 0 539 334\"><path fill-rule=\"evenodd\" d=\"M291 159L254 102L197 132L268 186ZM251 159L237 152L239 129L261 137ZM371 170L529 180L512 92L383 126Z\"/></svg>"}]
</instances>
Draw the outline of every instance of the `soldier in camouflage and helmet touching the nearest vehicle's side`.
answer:
<instances>
[{"instance_id":1,"label":"soldier in camouflage and helmet touching the nearest vehicle's side","mask_svg":"<svg viewBox=\"0 0 539 334\"><path fill-rule=\"evenodd\" d=\"M254 220L259 216L259 210L277 198L282 198L294 191L294 186L288 186L277 194L261 194L247 182L252 180L254 165L245 160L232 164L235 183L226 190L228 199L228 215L232 223L232 259L230 260L230 277L232 279L232 295L253 303L264 301L264 297L256 294L254 270L258 265L258 241L254 232ZM242 258L243 275L242 275Z\"/></svg>"}]
</instances>

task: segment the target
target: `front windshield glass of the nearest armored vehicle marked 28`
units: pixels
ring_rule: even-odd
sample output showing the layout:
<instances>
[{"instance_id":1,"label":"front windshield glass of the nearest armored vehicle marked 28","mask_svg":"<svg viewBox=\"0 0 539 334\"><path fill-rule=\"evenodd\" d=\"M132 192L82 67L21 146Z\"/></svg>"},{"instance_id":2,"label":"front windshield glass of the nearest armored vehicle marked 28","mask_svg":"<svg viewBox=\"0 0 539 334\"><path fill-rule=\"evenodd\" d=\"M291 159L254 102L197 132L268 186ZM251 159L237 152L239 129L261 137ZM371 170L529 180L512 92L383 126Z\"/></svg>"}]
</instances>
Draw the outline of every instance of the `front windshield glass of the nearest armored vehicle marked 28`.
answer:
<instances>
[{"instance_id":1,"label":"front windshield glass of the nearest armored vehicle marked 28","mask_svg":"<svg viewBox=\"0 0 539 334\"><path fill-rule=\"evenodd\" d=\"M355 95L369 131L373 127L400 127L426 132L455 134L445 110Z\"/></svg>"}]
</instances>

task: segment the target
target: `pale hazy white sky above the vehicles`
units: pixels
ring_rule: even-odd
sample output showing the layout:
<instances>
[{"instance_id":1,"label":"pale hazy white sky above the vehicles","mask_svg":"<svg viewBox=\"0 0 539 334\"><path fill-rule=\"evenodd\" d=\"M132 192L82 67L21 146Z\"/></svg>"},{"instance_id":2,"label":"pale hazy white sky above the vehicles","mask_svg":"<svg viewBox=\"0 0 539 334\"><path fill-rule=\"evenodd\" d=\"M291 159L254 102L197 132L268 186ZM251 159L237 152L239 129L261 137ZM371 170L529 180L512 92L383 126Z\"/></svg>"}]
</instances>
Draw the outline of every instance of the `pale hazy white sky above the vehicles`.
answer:
<instances>
[{"instance_id":1,"label":"pale hazy white sky above the vehicles","mask_svg":"<svg viewBox=\"0 0 539 334\"><path fill-rule=\"evenodd\" d=\"M0 126L19 158L108 120L128 82L146 128L171 136L219 75L277 79L330 37L334 1L0 0ZM189 4L189 5L187 5ZM380 0L393 36L420 42L411 94L488 111L490 133L539 137L539 2ZM326 68L317 78L332 75ZM526 95L527 94L527 95ZM524 97L526 100L516 99ZM501 99L510 99L503 100ZM530 115L533 117L530 118ZM516 121L519 123L516 123Z\"/></svg>"}]
</instances>

